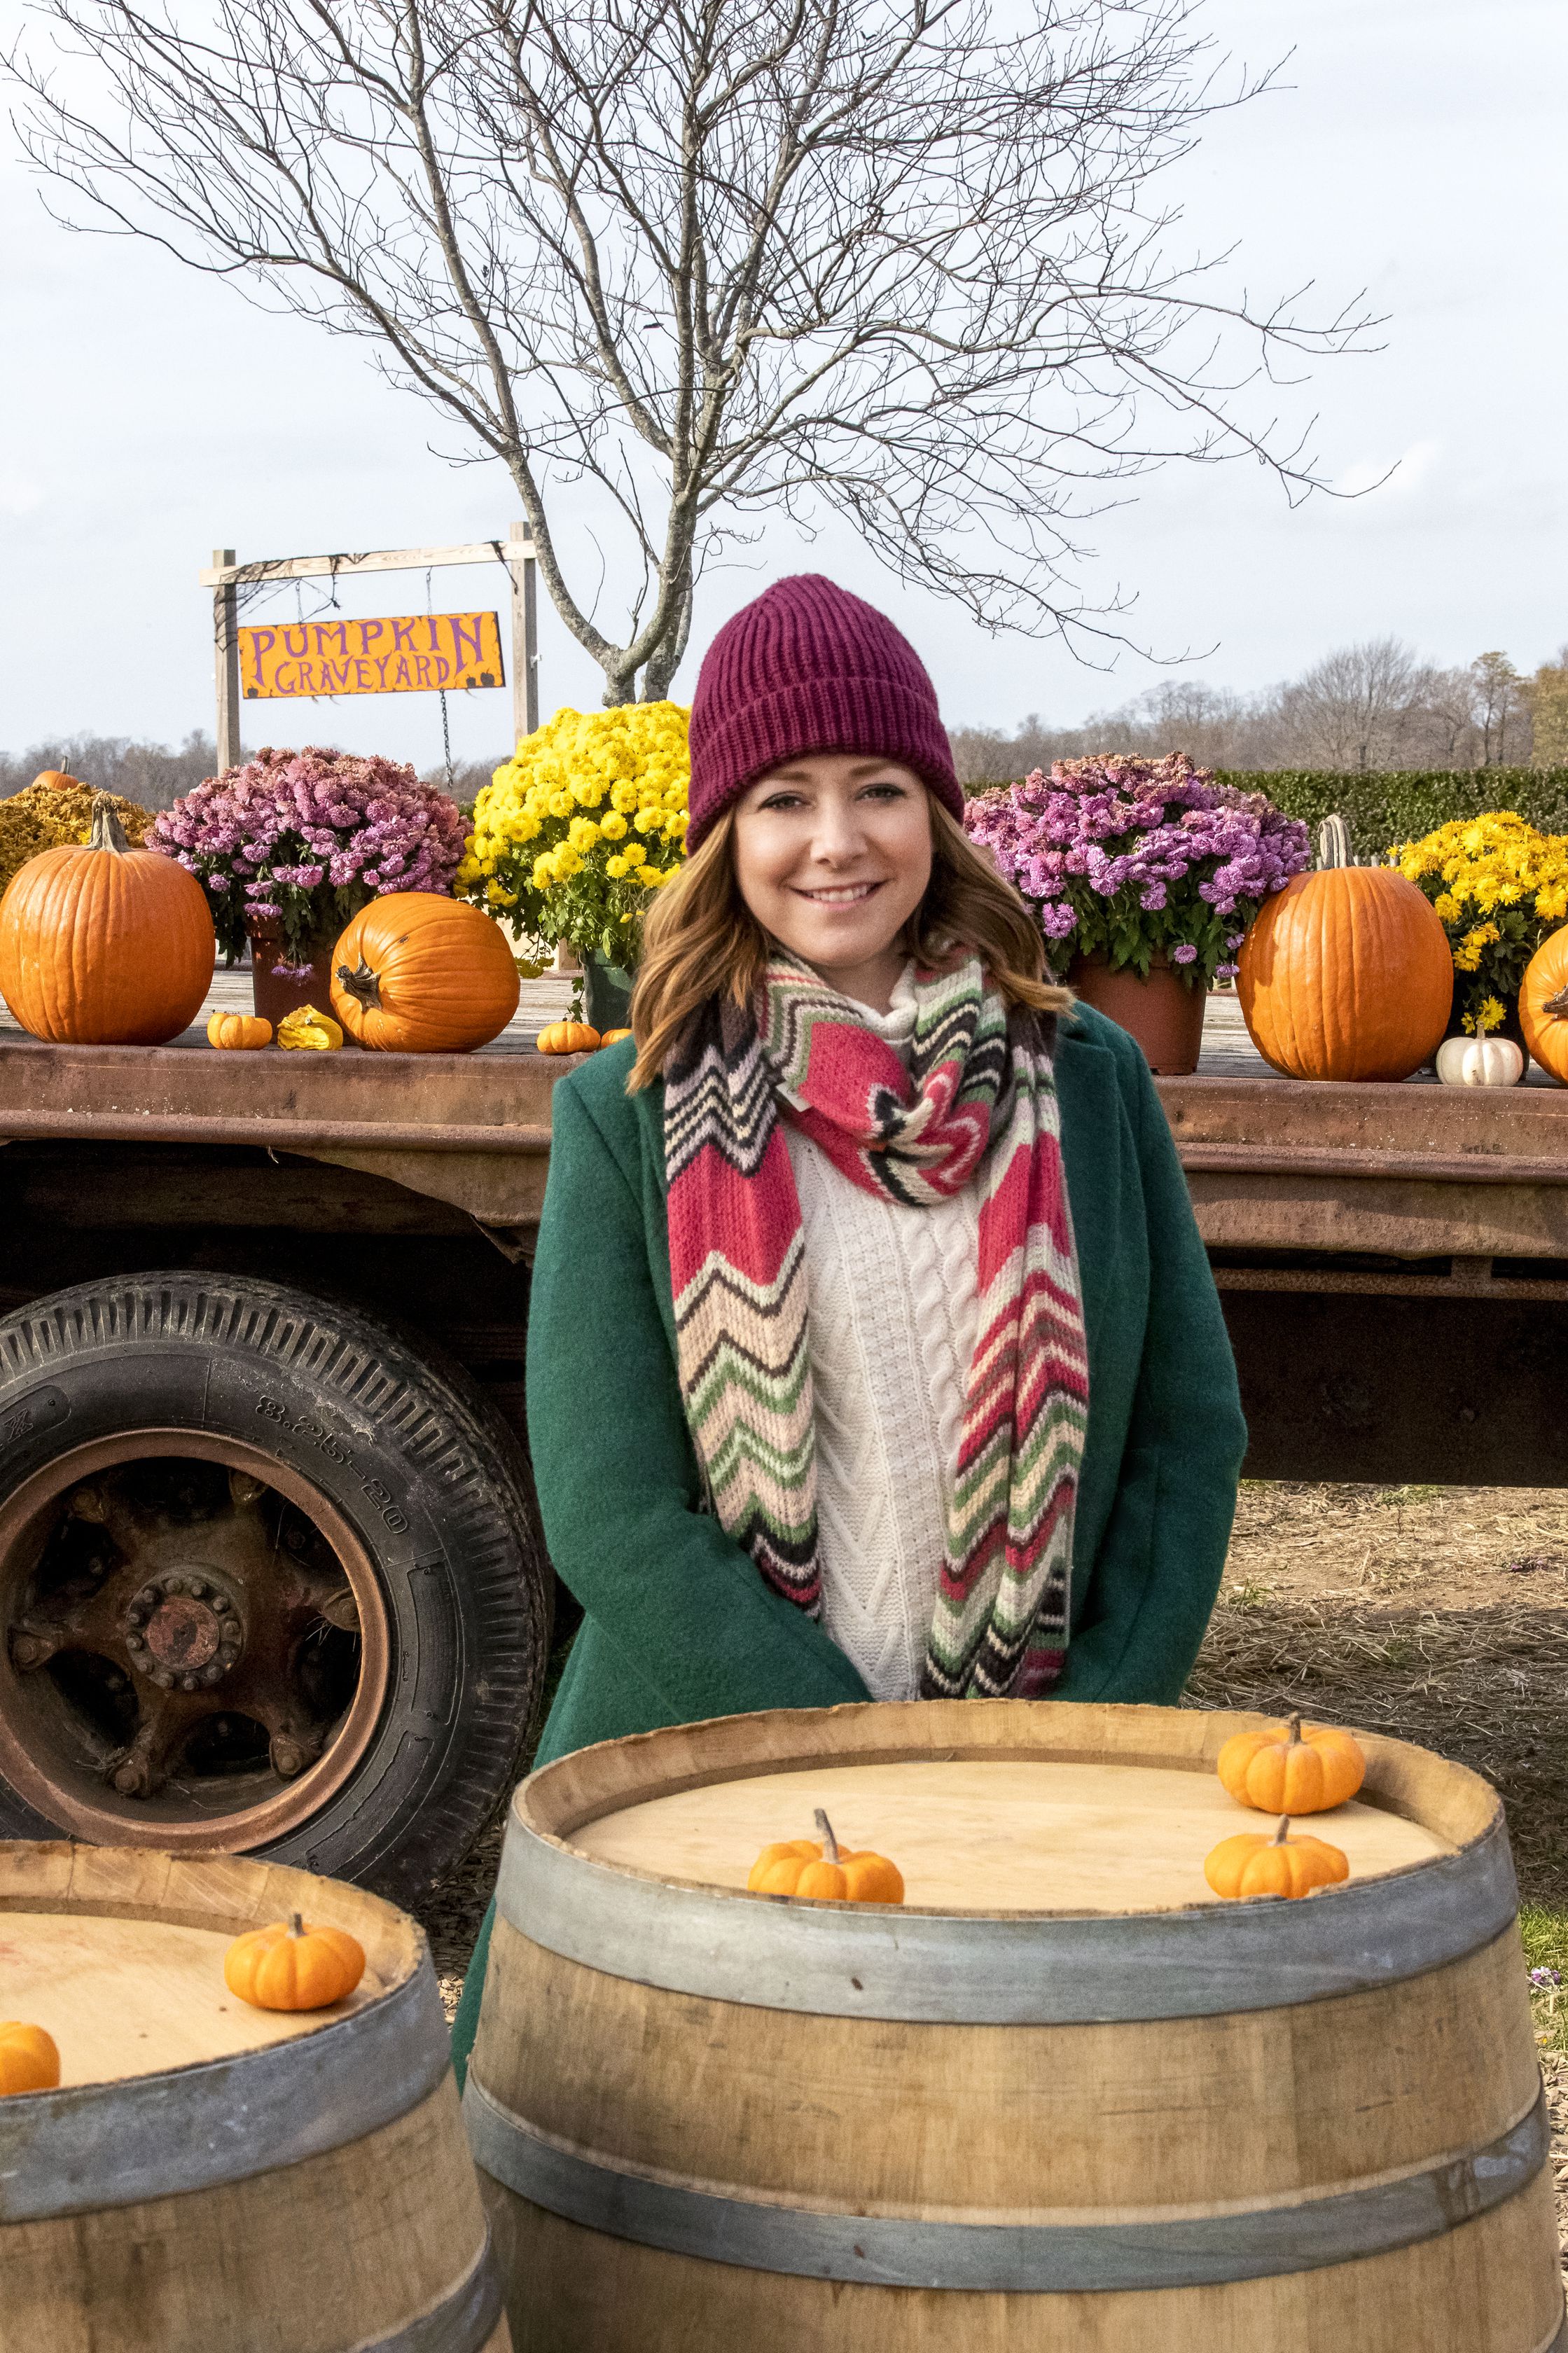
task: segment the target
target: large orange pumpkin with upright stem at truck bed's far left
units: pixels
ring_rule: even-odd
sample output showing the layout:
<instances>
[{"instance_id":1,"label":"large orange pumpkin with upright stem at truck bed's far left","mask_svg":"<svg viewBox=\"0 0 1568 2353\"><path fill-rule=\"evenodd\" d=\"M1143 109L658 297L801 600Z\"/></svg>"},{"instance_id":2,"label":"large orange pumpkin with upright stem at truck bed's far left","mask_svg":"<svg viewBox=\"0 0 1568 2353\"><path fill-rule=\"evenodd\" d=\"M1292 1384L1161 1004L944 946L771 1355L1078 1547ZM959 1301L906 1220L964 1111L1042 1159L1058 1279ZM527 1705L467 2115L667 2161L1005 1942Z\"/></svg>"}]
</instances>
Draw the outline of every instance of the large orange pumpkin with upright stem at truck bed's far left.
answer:
<instances>
[{"instance_id":1,"label":"large orange pumpkin with upright stem at truck bed's far left","mask_svg":"<svg viewBox=\"0 0 1568 2353\"><path fill-rule=\"evenodd\" d=\"M57 1045L179 1038L212 988L214 953L195 875L132 849L104 795L92 840L40 849L0 899L0 995Z\"/></svg>"}]
</instances>

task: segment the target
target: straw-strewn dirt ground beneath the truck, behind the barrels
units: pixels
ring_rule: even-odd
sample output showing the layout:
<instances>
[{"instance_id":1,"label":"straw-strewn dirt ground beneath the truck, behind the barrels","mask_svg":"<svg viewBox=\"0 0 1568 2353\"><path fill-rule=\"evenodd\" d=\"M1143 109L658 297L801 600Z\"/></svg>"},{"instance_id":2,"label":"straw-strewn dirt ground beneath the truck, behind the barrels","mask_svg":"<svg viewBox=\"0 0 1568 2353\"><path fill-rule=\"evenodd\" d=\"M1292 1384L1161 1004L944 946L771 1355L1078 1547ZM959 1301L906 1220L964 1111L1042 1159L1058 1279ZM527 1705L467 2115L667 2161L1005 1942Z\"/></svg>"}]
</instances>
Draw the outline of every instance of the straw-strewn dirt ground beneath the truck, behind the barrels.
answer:
<instances>
[{"instance_id":1,"label":"straw-strewn dirt ground beneath the truck, behind the barrels","mask_svg":"<svg viewBox=\"0 0 1568 2353\"><path fill-rule=\"evenodd\" d=\"M1196 1706L1302 1708L1420 1741L1502 1791L1530 1958L1568 1979L1568 1489L1248 1482ZM424 1922L457 1986L499 1826ZM1568 2268L1568 1984L1537 1993Z\"/></svg>"}]
</instances>

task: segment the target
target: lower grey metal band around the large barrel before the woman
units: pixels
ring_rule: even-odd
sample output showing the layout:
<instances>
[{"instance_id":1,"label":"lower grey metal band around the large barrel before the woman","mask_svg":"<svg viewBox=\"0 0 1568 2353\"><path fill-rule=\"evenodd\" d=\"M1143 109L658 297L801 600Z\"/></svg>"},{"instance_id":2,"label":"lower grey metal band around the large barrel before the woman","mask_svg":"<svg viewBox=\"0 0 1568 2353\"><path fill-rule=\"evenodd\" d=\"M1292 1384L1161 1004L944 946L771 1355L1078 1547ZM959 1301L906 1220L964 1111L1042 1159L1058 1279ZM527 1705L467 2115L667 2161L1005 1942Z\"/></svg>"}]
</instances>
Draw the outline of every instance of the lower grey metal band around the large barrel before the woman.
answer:
<instances>
[{"instance_id":1,"label":"lower grey metal band around the large barrel before the woman","mask_svg":"<svg viewBox=\"0 0 1568 2353\"><path fill-rule=\"evenodd\" d=\"M1217 2287L1389 2254L1519 2195L1547 2162L1549 2146L1542 2092L1530 2113L1486 2148L1302 2205L1184 2221L972 2224L753 2205L622 2172L546 2141L473 2071L464 2120L476 2162L506 2188L638 2247L803 2280L1008 2297Z\"/></svg>"}]
</instances>

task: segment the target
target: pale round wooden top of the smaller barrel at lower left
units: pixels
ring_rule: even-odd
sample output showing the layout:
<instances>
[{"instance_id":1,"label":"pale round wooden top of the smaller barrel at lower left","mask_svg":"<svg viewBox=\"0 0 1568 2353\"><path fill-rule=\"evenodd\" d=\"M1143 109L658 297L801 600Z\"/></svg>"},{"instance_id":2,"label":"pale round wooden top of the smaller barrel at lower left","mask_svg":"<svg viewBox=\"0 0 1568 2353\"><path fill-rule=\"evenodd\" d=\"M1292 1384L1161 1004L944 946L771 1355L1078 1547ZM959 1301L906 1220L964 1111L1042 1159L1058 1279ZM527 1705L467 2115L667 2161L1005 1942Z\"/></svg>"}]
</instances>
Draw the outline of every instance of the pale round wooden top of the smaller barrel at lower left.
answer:
<instances>
[{"instance_id":1,"label":"pale round wooden top of the smaller barrel at lower left","mask_svg":"<svg viewBox=\"0 0 1568 2353\"><path fill-rule=\"evenodd\" d=\"M61 2085L115 2082L308 2035L377 2000L365 1972L330 2009L252 2009L224 1984L228 1932L162 1920L0 1913L0 2009L45 2026Z\"/></svg>"}]
</instances>

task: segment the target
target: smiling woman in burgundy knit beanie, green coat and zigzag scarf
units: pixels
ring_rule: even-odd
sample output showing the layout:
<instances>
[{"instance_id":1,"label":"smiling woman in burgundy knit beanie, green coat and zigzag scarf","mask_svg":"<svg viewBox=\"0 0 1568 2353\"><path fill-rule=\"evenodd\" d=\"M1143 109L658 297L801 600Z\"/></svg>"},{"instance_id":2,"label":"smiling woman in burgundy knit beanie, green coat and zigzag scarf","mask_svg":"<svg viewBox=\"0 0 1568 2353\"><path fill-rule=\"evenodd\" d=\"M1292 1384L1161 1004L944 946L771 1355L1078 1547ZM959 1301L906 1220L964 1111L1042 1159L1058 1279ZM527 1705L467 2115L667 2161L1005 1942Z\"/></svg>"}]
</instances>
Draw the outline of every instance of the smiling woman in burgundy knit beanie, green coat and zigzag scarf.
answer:
<instances>
[{"instance_id":1,"label":"smiling woman in burgundy knit beanie, green coat and zigzag scarf","mask_svg":"<svg viewBox=\"0 0 1568 2353\"><path fill-rule=\"evenodd\" d=\"M1220 1301L1142 1054L961 816L883 614L803 576L725 624L633 1045L553 1096L527 1419L584 1624L542 1762L1182 1692L1245 1445Z\"/></svg>"}]
</instances>

